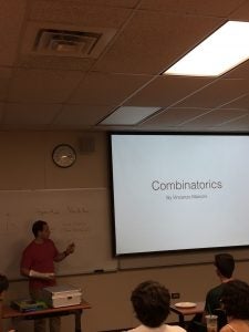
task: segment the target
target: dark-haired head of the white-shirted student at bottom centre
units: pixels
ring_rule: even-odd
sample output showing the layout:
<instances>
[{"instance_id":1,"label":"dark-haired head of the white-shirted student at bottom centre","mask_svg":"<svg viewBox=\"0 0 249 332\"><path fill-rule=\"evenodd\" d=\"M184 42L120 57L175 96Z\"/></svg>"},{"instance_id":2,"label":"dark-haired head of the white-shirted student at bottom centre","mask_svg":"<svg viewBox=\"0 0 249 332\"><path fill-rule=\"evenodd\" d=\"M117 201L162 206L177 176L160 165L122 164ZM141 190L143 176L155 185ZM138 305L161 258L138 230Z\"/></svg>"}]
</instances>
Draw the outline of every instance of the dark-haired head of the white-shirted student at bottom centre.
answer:
<instances>
[{"instance_id":1,"label":"dark-haired head of the white-shirted student at bottom centre","mask_svg":"<svg viewBox=\"0 0 249 332\"><path fill-rule=\"evenodd\" d=\"M137 319L148 328L162 325L169 314L169 292L156 281L139 283L132 292L131 301Z\"/></svg>"}]
</instances>

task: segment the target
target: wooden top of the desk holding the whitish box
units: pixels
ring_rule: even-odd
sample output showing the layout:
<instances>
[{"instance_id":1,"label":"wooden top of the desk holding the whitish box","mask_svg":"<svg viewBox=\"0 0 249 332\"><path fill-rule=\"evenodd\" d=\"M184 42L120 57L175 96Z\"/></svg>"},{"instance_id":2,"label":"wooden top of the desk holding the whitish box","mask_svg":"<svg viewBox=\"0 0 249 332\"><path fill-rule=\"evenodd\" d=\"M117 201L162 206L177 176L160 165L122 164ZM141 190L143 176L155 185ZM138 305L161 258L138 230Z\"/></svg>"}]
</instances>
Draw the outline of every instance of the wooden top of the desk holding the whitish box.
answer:
<instances>
[{"instance_id":1,"label":"wooden top of the desk holding the whitish box","mask_svg":"<svg viewBox=\"0 0 249 332\"><path fill-rule=\"evenodd\" d=\"M53 312L84 310L84 309L90 309L90 308L91 308L90 303L85 302L84 300L81 302L81 304L77 304L77 305L69 305L69 307L61 307L61 308L48 308L48 309L43 309L43 310L35 310L35 311L29 311L29 312L20 312L8 305L3 305L2 318L10 319L10 318L18 318L18 317L31 317L31 315L46 314L46 313L53 313Z\"/></svg>"}]
</instances>

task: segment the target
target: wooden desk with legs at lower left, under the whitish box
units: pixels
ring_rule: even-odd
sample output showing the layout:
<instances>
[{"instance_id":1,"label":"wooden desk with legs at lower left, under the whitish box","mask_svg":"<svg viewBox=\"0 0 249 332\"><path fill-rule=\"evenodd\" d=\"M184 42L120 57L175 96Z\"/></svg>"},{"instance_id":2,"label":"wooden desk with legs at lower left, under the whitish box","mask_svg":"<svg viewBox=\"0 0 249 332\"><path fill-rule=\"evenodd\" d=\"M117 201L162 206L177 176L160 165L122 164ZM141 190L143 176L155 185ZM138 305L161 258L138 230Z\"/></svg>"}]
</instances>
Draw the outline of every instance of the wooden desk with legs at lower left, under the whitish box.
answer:
<instances>
[{"instance_id":1,"label":"wooden desk with legs at lower left, under the whitish box","mask_svg":"<svg viewBox=\"0 0 249 332\"><path fill-rule=\"evenodd\" d=\"M12 319L13 324L15 325L18 320L35 320L35 319L42 319L42 318L51 318L56 315L68 315L68 314L74 314L74 321L75 321L75 332L82 332L81 326L81 317L83 313L83 310L90 309L90 303L82 301L81 304L77 305L70 305L70 307L62 307L62 308L49 308L44 310L37 310L37 311L30 311L30 312L20 312L18 310L14 310L8 305L3 305L2 308L2 318L3 319Z\"/></svg>"}]
</instances>

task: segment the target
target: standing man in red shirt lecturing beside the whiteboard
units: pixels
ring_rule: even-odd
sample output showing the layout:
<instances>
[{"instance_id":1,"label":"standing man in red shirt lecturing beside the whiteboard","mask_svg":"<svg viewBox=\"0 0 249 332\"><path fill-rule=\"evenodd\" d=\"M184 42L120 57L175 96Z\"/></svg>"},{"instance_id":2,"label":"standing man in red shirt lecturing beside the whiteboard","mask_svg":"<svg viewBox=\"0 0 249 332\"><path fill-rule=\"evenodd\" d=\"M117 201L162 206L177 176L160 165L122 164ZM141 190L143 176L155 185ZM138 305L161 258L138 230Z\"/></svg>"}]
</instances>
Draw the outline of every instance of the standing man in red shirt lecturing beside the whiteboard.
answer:
<instances>
[{"instance_id":1,"label":"standing man in red shirt lecturing beside the whiteboard","mask_svg":"<svg viewBox=\"0 0 249 332\"><path fill-rule=\"evenodd\" d=\"M59 262L73 253L74 243L59 252L50 240L50 229L45 221L38 220L32 226L34 240L24 249L21 260L21 273L29 278L30 294L34 300L42 299L44 287L55 286L54 261ZM50 319L50 332L60 331L60 318ZM34 332L45 332L45 320L34 320Z\"/></svg>"}]
</instances>

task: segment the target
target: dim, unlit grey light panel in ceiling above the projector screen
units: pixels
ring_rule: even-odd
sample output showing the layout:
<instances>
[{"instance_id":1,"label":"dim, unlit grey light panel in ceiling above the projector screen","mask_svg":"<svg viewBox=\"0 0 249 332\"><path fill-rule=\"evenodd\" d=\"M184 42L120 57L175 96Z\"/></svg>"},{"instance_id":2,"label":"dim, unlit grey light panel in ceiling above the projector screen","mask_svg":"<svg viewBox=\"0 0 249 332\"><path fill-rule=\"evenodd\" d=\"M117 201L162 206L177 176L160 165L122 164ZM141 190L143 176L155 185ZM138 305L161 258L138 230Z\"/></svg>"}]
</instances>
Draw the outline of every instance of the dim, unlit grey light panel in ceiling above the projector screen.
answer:
<instances>
[{"instance_id":1,"label":"dim, unlit grey light panel in ceiling above the projector screen","mask_svg":"<svg viewBox=\"0 0 249 332\"><path fill-rule=\"evenodd\" d=\"M122 106L103 120L100 125L135 125L160 107Z\"/></svg>"}]
</instances>

